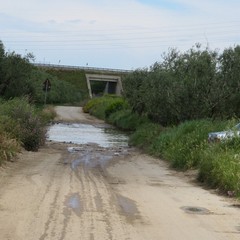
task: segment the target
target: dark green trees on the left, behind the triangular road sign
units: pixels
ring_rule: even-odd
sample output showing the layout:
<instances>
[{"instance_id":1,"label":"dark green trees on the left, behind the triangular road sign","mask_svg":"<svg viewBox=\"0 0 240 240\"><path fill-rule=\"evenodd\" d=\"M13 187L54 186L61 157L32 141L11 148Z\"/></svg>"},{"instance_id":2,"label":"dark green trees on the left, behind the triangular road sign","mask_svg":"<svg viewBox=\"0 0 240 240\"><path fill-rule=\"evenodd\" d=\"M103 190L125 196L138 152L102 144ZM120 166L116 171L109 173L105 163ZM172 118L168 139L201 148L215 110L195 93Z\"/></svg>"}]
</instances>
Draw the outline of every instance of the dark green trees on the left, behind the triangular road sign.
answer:
<instances>
[{"instance_id":1,"label":"dark green trees on the left, behind the triangular road sign","mask_svg":"<svg viewBox=\"0 0 240 240\"><path fill-rule=\"evenodd\" d=\"M27 96L30 102L43 104L43 83L49 79L52 87L48 93L48 103L72 103L82 100L81 93L74 84L35 67L31 64L32 61L33 54L22 56L7 52L0 41L0 98L8 100Z\"/></svg>"}]
</instances>

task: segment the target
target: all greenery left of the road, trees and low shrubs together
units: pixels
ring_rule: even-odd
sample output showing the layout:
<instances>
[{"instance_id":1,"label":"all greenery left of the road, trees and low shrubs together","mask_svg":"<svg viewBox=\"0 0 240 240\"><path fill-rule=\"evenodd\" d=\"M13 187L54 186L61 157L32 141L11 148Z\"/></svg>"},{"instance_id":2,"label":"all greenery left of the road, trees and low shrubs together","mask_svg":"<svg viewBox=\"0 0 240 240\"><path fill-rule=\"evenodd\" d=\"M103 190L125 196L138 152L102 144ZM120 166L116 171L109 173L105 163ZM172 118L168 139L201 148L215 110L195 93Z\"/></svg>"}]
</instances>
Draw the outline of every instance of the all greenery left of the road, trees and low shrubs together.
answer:
<instances>
[{"instance_id":1,"label":"all greenery left of the road, trees and low shrubs together","mask_svg":"<svg viewBox=\"0 0 240 240\"><path fill-rule=\"evenodd\" d=\"M49 102L79 99L74 87L34 67L33 59L32 54L6 52L0 41L0 165L12 161L22 149L37 151L44 144L46 124L55 114L51 107L43 106L46 78L52 82Z\"/></svg>"}]
</instances>

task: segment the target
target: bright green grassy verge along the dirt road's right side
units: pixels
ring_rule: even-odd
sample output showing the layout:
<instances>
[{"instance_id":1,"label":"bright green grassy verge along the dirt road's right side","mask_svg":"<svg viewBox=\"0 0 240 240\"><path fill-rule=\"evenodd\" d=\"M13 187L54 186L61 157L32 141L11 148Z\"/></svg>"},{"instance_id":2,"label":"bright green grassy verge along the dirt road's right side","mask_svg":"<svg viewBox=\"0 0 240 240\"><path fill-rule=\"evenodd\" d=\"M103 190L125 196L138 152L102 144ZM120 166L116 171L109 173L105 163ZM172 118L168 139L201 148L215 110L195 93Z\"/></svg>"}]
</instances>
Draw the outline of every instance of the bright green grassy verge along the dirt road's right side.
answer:
<instances>
[{"instance_id":1,"label":"bright green grassy verge along the dirt road's right side","mask_svg":"<svg viewBox=\"0 0 240 240\"><path fill-rule=\"evenodd\" d=\"M124 99L111 96L90 100L84 110L123 130L132 131L131 145L169 161L176 169L196 169L202 183L221 193L231 192L240 197L240 139L207 142L209 132L229 129L236 121L203 119L164 128L133 114Z\"/></svg>"}]
</instances>

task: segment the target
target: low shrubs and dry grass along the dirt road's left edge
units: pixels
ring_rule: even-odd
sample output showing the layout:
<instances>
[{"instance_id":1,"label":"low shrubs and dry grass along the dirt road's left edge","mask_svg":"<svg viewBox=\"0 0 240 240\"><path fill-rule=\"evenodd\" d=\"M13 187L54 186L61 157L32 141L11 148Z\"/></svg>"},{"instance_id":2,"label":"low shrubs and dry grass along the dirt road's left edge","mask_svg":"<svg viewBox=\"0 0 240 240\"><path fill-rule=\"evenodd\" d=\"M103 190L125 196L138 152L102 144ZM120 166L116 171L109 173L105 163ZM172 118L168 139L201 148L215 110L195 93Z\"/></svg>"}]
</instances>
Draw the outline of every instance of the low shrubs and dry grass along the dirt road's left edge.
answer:
<instances>
[{"instance_id":1,"label":"low shrubs and dry grass along the dirt road's left edge","mask_svg":"<svg viewBox=\"0 0 240 240\"><path fill-rule=\"evenodd\" d=\"M0 165L23 148L37 151L45 143L46 124L54 117L50 108L39 110L26 97L0 102Z\"/></svg>"}]
</instances>

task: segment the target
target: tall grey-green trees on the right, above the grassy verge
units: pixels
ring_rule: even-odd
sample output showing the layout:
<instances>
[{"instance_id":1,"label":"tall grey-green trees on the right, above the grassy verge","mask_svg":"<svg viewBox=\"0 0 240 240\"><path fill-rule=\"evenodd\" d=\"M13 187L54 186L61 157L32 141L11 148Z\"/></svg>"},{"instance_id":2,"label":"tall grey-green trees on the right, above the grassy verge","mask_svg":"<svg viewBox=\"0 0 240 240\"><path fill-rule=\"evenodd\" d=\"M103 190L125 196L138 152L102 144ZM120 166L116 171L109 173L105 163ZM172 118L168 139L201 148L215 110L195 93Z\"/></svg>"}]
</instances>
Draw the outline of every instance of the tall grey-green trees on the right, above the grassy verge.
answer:
<instances>
[{"instance_id":1,"label":"tall grey-green trees on the right, above the grassy verge","mask_svg":"<svg viewBox=\"0 0 240 240\"><path fill-rule=\"evenodd\" d=\"M162 125L240 117L240 46L223 52L196 44L123 79L132 111Z\"/></svg>"}]
</instances>

